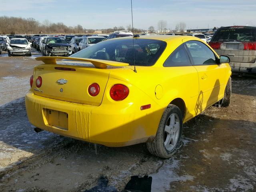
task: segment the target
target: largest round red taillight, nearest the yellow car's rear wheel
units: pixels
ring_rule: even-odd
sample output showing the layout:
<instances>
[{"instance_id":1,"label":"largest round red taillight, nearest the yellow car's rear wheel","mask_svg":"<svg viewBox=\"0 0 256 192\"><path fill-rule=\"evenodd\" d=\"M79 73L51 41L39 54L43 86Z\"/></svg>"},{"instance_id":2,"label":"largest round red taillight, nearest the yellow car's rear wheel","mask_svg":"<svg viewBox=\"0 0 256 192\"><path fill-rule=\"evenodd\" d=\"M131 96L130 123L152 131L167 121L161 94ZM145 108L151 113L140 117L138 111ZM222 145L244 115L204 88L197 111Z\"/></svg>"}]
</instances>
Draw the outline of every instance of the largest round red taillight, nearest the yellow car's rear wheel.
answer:
<instances>
[{"instance_id":1,"label":"largest round red taillight, nearest the yellow car's rear wheel","mask_svg":"<svg viewBox=\"0 0 256 192\"><path fill-rule=\"evenodd\" d=\"M115 84L110 89L110 97L115 101L124 100L129 94L129 89L125 85Z\"/></svg>"}]
</instances>

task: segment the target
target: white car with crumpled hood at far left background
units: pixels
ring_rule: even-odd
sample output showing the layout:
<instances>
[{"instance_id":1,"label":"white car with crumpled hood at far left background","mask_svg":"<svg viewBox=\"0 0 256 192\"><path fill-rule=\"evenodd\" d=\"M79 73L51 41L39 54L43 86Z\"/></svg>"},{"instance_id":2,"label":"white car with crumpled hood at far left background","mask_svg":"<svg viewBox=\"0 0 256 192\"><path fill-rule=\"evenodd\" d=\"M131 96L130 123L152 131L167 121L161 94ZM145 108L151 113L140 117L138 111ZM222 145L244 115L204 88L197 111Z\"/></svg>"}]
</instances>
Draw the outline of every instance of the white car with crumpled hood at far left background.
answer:
<instances>
[{"instance_id":1,"label":"white car with crumpled hood at far left background","mask_svg":"<svg viewBox=\"0 0 256 192\"><path fill-rule=\"evenodd\" d=\"M12 38L7 46L8 56L28 55L31 56L30 43L26 38Z\"/></svg>"}]
</instances>

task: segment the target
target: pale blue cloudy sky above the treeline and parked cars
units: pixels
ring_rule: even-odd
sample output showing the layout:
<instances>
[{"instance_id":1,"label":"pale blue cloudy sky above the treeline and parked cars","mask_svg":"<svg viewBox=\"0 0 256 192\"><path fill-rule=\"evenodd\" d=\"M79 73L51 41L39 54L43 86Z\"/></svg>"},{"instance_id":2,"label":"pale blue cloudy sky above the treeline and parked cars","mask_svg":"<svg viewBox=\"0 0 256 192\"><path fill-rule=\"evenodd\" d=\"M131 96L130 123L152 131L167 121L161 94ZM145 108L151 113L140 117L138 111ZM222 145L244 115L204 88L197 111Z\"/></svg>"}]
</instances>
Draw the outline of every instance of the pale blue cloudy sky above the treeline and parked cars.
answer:
<instances>
[{"instance_id":1,"label":"pale blue cloudy sky above the treeline and parked cars","mask_svg":"<svg viewBox=\"0 0 256 192\"><path fill-rule=\"evenodd\" d=\"M159 20L167 28L178 22L187 28L256 26L256 0L133 0L134 27L157 29ZM130 0L0 0L0 16L35 18L43 22L81 24L100 29L131 24Z\"/></svg>"}]
</instances>

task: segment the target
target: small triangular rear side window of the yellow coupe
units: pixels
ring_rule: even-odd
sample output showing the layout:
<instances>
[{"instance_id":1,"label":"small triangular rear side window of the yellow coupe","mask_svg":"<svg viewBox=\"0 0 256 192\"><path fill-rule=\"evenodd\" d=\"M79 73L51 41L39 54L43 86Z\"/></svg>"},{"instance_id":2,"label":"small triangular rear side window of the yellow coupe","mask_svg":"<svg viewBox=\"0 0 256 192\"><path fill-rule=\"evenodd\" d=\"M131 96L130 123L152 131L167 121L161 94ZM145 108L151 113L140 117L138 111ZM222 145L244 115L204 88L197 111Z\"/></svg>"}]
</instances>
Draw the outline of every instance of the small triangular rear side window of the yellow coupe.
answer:
<instances>
[{"instance_id":1,"label":"small triangular rear side window of the yellow coupe","mask_svg":"<svg viewBox=\"0 0 256 192\"><path fill-rule=\"evenodd\" d=\"M164 62L165 67L174 67L174 66L191 66L188 53L182 44L179 46L167 60Z\"/></svg>"}]
</instances>

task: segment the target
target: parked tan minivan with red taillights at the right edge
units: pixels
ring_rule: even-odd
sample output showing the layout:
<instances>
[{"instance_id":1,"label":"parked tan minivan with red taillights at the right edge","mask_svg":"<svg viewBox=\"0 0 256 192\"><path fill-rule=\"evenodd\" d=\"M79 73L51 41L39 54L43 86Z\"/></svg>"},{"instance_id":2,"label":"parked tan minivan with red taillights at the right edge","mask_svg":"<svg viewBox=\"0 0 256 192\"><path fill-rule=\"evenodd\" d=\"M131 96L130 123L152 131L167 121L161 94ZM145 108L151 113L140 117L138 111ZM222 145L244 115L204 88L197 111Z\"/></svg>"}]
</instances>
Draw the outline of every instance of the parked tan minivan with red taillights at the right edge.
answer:
<instances>
[{"instance_id":1,"label":"parked tan minivan with red taillights at the right edge","mask_svg":"<svg viewBox=\"0 0 256 192\"><path fill-rule=\"evenodd\" d=\"M256 73L256 27L221 27L209 45L230 58L233 72Z\"/></svg>"}]
</instances>

